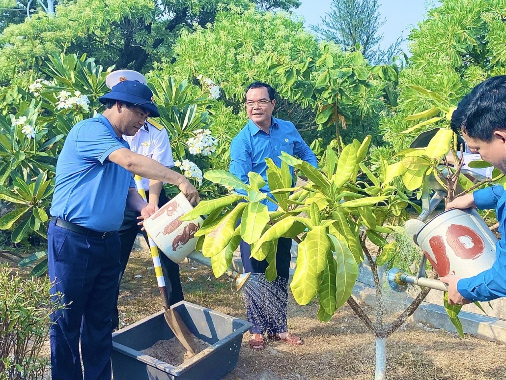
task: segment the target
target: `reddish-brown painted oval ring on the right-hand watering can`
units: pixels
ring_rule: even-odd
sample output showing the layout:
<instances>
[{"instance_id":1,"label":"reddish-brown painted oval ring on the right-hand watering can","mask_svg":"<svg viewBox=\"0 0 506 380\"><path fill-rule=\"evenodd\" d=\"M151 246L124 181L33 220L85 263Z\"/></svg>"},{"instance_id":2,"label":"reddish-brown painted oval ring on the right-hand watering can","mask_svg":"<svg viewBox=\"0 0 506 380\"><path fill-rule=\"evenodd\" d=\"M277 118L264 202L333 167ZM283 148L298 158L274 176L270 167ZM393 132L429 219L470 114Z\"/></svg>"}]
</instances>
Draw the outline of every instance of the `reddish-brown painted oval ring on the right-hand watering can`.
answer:
<instances>
[{"instance_id":1,"label":"reddish-brown painted oval ring on the right-hand watering can","mask_svg":"<svg viewBox=\"0 0 506 380\"><path fill-rule=\"evenodd\" d=\"M462 237L468 238L471 244L462 242ZM455 255L466 260L474 260L485 251L483 238L466 225L450 225L446 231L446 241Z\"/></svg>"}]
</instances>

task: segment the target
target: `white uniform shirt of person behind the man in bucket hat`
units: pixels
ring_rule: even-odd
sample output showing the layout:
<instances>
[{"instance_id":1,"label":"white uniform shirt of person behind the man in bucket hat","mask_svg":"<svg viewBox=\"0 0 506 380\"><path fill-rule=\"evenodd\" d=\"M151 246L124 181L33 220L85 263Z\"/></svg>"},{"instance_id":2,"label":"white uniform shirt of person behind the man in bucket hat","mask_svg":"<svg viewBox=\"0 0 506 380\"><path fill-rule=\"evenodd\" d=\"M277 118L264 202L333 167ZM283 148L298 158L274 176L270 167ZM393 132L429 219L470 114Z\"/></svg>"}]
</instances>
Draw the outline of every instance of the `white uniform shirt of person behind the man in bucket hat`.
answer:
<instances>
[{"instance_id":1,"label":"white uniform shirt of person behind the man in bucket hat","mask_svg":"<svg viewBox=\"0 0 506 380\"><path fill-rule=\"evenodd\" d=\"M123 138L130 145L133 152L152 158L167 168L174 166L172 157L171 142L168 140L168 134L165 128L161 130L146 122L144 127L139 129L135 136L125 136ZM149 179L142 179L142 187L145 191L149 190Z\"/></svg>"}]
</instances>

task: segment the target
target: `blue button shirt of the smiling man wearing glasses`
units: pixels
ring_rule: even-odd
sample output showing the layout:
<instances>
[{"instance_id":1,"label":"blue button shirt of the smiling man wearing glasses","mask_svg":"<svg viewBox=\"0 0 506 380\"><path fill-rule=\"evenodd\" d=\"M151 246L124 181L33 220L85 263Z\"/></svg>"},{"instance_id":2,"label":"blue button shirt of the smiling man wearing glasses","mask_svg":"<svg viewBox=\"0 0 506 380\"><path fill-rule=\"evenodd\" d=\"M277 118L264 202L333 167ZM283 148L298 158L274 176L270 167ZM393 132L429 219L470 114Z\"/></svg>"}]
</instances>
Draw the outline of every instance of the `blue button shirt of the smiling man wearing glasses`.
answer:
<instances>
[{"instance_id":1,"label":"blue button shirt of the smiling man wearing glasses","mask_svg":"<svg viewBox=\"0 0 506 380\"><path fill-rule=\"evenodd\" d=\"M304 142L293 123L272 118L269 133L266 133L250 119L230 145L230 173L239 177L244 183L249 183L249 172L260 174L266 182L266 185L260 190L269 194L265 159L270 158L277 166L281 167L279 156L282 151L307 161L315 168L318 167L315 154ZM292 167L290 167L290 173L293 177ZM237 189L237 192L246 194L240 189ZM263 203L267 205L269 211L275 211L277 208L269 200L265 200Z\"/></svg>"}]
</instances>

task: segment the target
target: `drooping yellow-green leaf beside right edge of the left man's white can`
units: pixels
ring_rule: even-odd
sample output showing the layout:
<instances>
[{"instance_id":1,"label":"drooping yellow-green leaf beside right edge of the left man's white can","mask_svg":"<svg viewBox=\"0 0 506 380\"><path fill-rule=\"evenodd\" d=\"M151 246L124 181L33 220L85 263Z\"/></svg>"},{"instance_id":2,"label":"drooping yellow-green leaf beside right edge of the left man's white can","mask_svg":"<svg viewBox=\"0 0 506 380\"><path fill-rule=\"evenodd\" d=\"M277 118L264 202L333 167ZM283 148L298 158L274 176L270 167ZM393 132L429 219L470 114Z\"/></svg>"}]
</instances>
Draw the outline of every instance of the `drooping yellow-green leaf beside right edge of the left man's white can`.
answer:
<instances>
[{"instance_id":1,"label":"drooping yellow-green leaf beside right edge of the left man's white can","mask_svg":"<svg viewBox=\"0 0 506 380\"><path fill-rule=\"evenodd\" d=\"M235 206L232 211L223 217L215 229L205 236L204 244L202 244L202 254L205 257L212 257L220 253L230 243L237 220L241 217L246 205L246 203L241 202Z\"/></svg>"}]
</instances>

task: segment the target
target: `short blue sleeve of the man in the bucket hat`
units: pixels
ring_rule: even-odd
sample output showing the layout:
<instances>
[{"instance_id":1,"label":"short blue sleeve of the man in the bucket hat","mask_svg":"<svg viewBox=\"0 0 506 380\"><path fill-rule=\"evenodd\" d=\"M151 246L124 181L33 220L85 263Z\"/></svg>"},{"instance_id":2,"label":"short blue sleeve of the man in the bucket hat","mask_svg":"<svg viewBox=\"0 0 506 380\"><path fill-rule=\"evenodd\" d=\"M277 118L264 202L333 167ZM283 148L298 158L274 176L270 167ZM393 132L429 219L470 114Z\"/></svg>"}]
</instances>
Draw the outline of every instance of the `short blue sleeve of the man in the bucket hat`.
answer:
<instances>
[{"instance_id":1,"label":"short blue sleeve of the man in the bucket hat","mask_svg":"<svg viewBox=\"0 0 506 380\"><path fill-rule=\"evenodd\" d=\"M109 155L126 147L102 123L89 123L79 128L75 138L76 150L84 160L99 161L101 164Z\"/></svg>"}]
</instances>

